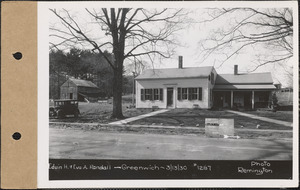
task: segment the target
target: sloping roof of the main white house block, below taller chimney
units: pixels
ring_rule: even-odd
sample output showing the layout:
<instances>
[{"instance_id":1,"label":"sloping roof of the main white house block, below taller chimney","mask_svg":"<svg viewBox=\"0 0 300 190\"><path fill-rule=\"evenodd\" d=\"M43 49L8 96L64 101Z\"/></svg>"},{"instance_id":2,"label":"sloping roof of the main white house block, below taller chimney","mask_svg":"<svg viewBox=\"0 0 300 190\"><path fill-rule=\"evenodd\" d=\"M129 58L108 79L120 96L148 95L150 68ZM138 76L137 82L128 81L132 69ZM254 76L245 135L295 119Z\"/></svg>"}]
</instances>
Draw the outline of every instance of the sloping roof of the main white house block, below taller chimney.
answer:
<instances>
[{"instance_id":1,"label":"sloping roof of the main white house block, below taller chimney","mask_svg":"<svg viewBox=\"0 0 300 190\"><path fill-rule=\"evenodd\" d=\"M136 77L139 79L169 79L169 78L202 78L208 77L213 67L185 67L170 69L149 69Z\"/></svg>"}]
</instances>

